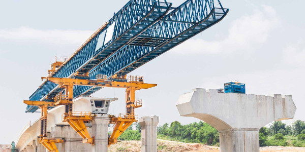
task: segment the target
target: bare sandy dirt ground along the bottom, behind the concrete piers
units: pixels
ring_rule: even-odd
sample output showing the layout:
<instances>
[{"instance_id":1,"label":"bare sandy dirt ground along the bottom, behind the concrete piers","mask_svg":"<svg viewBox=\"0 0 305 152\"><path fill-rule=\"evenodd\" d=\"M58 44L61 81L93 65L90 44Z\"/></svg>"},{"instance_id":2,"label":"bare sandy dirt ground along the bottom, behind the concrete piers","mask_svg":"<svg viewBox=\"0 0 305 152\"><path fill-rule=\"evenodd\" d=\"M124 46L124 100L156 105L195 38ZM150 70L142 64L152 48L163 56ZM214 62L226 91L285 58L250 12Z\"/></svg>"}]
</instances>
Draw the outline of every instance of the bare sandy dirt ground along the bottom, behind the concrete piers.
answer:
<instances>
[{"instance_id":1,"label":"bare sandy dirt ground along the bottom, behind the concrete piers","mask_svg":"<svg viewBox=\"0 0 305 152\"><path fill-rule=\"evenodd\" d=\"M111 145L108 151L126 151L138 152L141 151L140 141L119 141L117 144ZM219 152L219 147L207 146L199 143L182 143L176 141L167 141L158 139L158 152L175 151L175 152ZM283 147L283 146L269 146L261 147L261 152L305 152L305 147Z\"/></svg>"}]
</instances>

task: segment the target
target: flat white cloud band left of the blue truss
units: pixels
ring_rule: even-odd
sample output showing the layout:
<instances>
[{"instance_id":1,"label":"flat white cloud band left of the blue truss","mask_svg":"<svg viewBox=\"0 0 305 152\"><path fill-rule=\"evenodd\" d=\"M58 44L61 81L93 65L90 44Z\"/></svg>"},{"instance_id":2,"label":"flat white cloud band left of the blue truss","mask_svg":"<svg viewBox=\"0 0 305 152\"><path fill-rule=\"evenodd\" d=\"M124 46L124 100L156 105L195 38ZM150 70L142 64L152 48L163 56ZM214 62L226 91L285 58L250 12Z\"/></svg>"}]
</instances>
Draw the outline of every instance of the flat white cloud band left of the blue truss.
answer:
<instances>
[{"instance_id":1,"label":"flat white cloud band left of the blue truss","mask_svg":"<svg viewBox=\"0 0 305 152\"><path fill-rule=\"evenodd\" d=\"M0 29L0 39L79 45L93 33L94 31L90 30L41 30L29 27L20 27L15 29Z\"/></svg>"}]
</instances>

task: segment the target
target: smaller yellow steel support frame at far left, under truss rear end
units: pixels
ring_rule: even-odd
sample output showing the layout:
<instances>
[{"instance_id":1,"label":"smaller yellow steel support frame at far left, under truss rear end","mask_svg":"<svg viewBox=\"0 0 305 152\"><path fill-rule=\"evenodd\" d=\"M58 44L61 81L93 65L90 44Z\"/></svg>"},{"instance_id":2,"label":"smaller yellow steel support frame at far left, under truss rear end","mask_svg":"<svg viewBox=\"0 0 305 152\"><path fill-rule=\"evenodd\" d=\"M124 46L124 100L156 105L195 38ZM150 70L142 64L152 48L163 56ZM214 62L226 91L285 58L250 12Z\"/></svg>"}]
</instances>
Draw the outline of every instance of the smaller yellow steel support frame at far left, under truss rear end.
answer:
<instances>
[{"instance_id":1,"label":"smaller yellow steel support frame at far left, under truss rear end","mask_svg":"<svg viewBox=\"0 0 305 152\"><path fill-rule=\"evenodd\" d=\"M27 105L35 105L41 108L41 133L40 133L40 141L43 146L45 146L51 152L58 152L58 149L55 143L63 143L62 139L47 139L47 117L48 117L48 106L55 106L53 102L46 101L27 101L24 100L23 103Z\"/></svg>"}]
</instances>

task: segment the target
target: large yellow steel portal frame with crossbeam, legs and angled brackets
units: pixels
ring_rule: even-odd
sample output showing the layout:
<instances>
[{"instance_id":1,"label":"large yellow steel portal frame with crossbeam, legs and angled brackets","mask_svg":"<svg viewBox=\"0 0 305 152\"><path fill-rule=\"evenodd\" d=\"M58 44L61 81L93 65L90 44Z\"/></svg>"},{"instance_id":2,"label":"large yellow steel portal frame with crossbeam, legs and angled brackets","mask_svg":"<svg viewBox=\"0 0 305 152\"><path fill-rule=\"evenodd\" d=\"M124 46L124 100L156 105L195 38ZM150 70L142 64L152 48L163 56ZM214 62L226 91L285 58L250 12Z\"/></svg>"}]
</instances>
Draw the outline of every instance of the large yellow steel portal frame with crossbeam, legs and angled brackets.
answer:
<instances>
[{"instance_id":1,"label":"large yellow steel portal frame with crossbeam, legs and angled brackets","mask_svg":"<svg viewBox=\"0 0 305 152\"><path fill-rule=\"evenodd\" d=\"M101 77L103 78L103 77ZM94 117L86 115L75 115L73 114L73 85L80 86L99 86L99 87L112 87L112 88L126 88L126 115L114 117L110 116L110 123L115 124L112 135L108 140L108 146L117 142L117 138L134 122L136 122L135 108L141 107L135 102L135 91L140 89L148 89L157 86L156 84L145 84L143 78L135 79L132 82L115 82L108 81L106 79L97 80L82 80L82 79L70 79L70 78L47 78L49 81L56 83L59 87L66 89L68 94L69 103L64 98L61 101L60 98L56 99L56 105L66 105L64 121L68 122L70 126L77 131L77 133L83 138L83 143L94 144L94 137L90 138L90 135L86 129L84 122L93 121ZM67 96L67 95L66 95Z\"/></svg>"}]
</instances>

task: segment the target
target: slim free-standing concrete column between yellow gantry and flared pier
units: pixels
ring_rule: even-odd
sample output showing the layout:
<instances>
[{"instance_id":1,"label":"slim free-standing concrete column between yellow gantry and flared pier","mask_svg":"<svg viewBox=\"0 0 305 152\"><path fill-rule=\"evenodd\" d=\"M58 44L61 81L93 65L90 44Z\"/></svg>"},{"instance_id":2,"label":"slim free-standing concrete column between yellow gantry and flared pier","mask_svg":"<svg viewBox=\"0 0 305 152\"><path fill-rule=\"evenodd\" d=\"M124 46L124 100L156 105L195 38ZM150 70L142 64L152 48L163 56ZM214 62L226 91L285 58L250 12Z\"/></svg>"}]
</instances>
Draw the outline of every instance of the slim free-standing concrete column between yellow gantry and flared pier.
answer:
<instances>
[{"instance_id":1,"label":"slim free-standing concrete column between yellow gantry and flared pier","mask_svg":"<svg viewBox=\"0 0 305 152\"><path fill-rule=\"evenodd\" d=\"M142 117L139 120L141 125L142 152L157 152L157 126L159 117Z\"/></svg>"}]
</instances>

